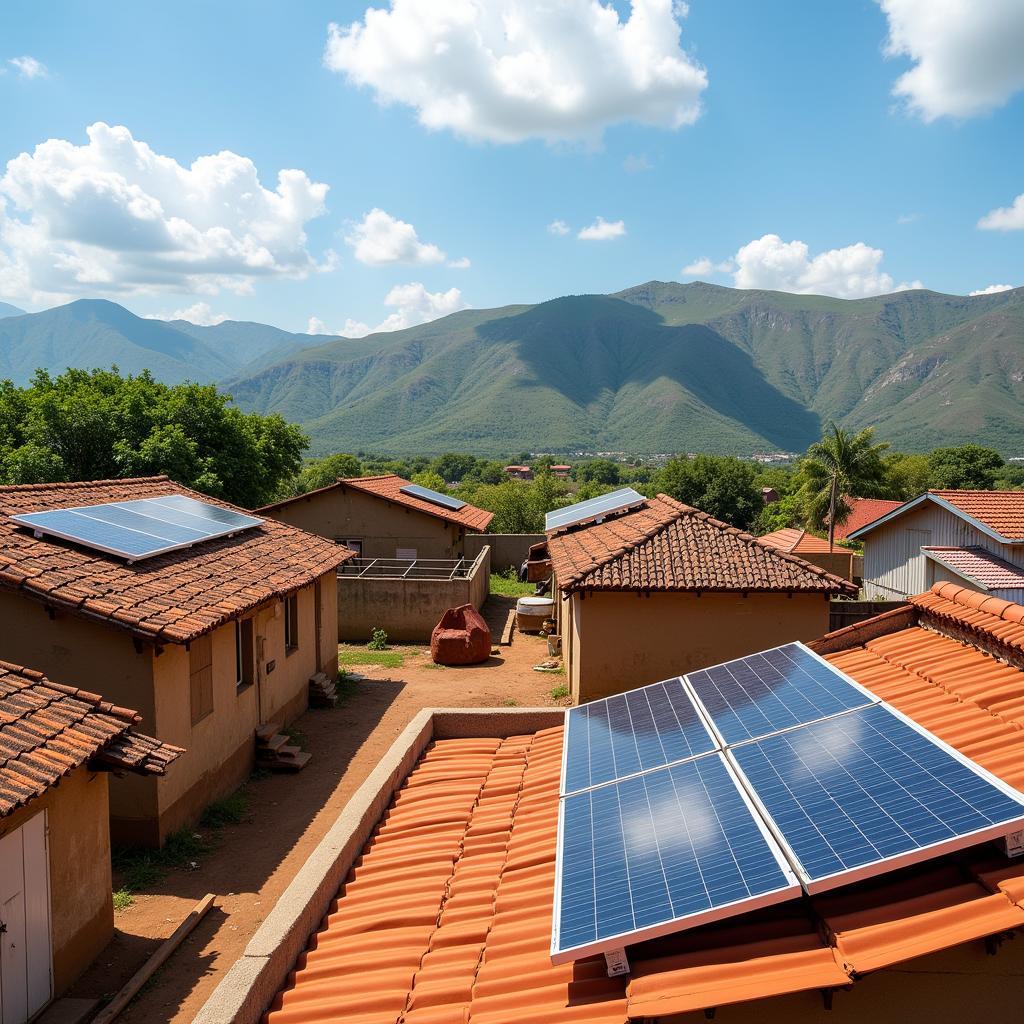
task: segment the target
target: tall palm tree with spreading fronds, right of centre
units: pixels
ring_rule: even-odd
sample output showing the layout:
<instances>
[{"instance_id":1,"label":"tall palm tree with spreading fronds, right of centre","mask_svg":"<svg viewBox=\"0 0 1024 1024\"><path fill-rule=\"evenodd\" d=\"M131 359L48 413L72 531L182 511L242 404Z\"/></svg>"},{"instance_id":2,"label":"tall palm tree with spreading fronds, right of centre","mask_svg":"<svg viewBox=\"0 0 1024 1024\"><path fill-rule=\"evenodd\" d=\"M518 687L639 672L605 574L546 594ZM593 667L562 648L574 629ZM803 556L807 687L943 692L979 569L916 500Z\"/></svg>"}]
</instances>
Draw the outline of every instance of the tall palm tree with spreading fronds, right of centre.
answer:
<instances>
[{"instance_id":1,"label":"tall palm tree with spreading fronds, right of centre","mask_svg":"<svg viewBox=\"0 0 1024 1024\"><path fill-rule=\"evenodd\" d=\"M800 465L809 525L821 529L827 523L829 551L836 543L836 526L850 515L845 497L869 498L885 480L882 456L889 445L874 444L873 440L873 427L855 434L829 423L824 436L807 450Z\"/></svg>"}]
</instances>

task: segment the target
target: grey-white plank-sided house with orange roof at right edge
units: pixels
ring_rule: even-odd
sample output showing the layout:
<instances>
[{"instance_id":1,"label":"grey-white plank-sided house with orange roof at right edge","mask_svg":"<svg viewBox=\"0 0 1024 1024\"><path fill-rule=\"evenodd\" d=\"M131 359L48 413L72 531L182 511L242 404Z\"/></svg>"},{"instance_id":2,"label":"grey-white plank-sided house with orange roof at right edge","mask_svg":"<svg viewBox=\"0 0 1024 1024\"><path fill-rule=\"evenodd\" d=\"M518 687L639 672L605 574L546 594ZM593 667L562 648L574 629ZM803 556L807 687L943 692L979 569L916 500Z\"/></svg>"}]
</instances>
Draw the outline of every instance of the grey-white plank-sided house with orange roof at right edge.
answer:
<instances>
[{"instance_id":1,"label":"grey-white plank-sided house with orange roof at right edge","mask_svg":"<svg viewBox=\"0 0 1024 1024\"><path fill-rule=\"evenodd\" d=\"M849 538L864 545L869 597L949 582L1024 603L1024 492L929 490Z\"/></svg>"}]
</instances>

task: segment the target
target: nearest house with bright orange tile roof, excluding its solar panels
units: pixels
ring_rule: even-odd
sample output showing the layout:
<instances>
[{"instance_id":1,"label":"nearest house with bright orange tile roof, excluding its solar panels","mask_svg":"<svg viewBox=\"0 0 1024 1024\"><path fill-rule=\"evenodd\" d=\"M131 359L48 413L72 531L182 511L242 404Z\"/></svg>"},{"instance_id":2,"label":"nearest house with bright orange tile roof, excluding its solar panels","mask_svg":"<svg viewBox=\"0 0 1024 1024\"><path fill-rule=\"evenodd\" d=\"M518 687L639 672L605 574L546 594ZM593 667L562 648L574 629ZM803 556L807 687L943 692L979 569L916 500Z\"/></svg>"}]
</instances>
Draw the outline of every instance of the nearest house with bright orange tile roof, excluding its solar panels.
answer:
<instances>
[{"instance_id":1,"label":"nearest house with bright orange tile roof, excluding its solar panels","mask_svg":"<svg viewBox=\"0 0 1024 1024\"><path fill-rule=\"evenodd\" d=\"M1024 606L946 584L810 646L1024 787ZM563 719L552 709L424 712L197 1024L1014 1018L1024 857L997 842L631 944L622 976L608 976L601 954L553 965Z\"/></svg>"}]
</instances>

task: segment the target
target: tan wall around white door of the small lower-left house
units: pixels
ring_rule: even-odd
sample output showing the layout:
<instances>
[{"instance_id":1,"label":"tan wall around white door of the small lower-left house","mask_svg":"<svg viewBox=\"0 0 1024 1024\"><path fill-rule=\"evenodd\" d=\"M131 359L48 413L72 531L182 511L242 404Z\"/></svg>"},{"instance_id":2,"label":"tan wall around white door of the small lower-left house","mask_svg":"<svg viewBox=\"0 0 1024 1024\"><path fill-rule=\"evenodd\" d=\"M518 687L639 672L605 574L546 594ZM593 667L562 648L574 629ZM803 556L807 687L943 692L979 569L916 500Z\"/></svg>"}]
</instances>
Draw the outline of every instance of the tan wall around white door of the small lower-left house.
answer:
<instances>
[{"instance_id":1,"label":"tan wall around white door of the small lower-left house","mask_svg":"<svg viewBox=\"0 0 1024 1024\"><path fill-rule=\"evenodd\" d=\"M114 936L108 776L76 768L60 784L0 819L6 836L48 814L53 992L59 995Z\"/></svg>"}]
</instances>

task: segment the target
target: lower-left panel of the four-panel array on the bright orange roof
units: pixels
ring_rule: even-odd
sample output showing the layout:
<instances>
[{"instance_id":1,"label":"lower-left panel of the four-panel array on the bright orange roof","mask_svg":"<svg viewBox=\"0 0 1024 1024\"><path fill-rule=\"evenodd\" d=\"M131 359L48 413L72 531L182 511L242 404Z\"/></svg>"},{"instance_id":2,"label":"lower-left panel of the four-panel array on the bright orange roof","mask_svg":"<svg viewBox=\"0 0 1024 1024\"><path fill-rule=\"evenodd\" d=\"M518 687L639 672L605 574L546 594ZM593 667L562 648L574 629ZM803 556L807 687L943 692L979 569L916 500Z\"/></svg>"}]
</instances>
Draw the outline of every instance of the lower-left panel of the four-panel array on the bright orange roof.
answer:
<instances>
[{"instance_id":1,"label":"lower-left panel of the four-panel array on the bright orange roof","mask_svg":"<svg viewBox=\"0 0 1024 1024\"><path fill-rule=\"evenodd\" d=\"M800 892L722 755L563 798L559 840L556 964Z\"/></svg>"}]
</instances>

